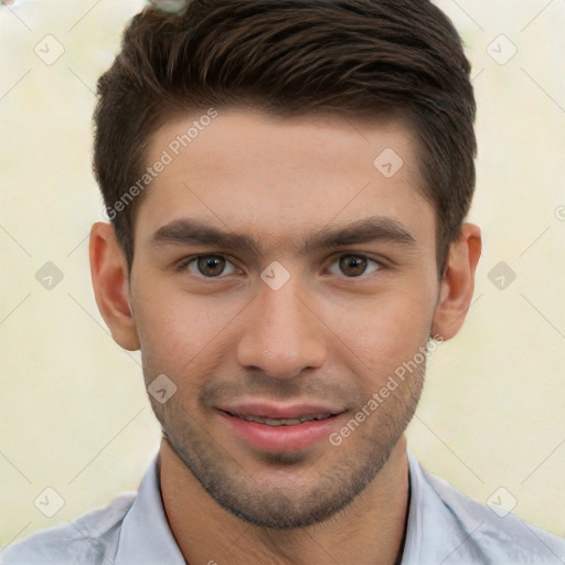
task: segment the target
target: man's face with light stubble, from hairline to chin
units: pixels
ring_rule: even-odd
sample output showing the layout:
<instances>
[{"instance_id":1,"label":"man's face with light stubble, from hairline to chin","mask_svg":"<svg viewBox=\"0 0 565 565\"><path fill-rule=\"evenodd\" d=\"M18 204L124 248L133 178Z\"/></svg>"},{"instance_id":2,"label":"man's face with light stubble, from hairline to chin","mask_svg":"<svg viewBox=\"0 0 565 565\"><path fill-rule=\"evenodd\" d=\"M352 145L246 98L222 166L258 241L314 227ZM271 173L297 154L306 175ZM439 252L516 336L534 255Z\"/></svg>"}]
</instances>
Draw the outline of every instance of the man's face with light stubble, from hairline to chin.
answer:
<instances>
[{"instance_id":1,"label":"man's face with light stubble, from hairline to chin","mask_svg":"<svg viewBox=\"0 0 565 565\"><path fill-rule=\"evenodd\" d=\"M173 160L136 217L146 384L164 374L177 386L153 409L218 503L258 525L303 526L375 477L419 398L438 279L414 135L233 110L175 157L170 143L195 118L152 138L149 162L163 150ZM404 161L392 177L391 149Z\"/></svg>"}]
</instances>

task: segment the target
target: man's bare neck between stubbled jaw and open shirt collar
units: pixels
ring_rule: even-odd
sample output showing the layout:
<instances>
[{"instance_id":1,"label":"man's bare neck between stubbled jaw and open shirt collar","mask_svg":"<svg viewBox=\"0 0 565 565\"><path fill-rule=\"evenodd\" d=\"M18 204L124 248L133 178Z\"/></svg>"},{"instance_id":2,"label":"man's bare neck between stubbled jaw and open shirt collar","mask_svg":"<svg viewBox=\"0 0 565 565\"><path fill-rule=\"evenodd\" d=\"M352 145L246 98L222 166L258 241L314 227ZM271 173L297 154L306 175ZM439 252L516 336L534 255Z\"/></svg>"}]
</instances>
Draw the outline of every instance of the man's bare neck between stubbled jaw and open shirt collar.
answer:
<instances>
[{"instance_id":1,"label":"man's bare neck between stubbled jaw and open shirt collar","mask_svg":"<svg viewBox=\"0 0 565 565\"><path fill-rule=\"evenodd\" d=\"M303 529L258 527L224 510L164 440L160 480L169 525L190 565L394 565L402 555L408 502L404 436L350 504Z\"/></svg>"}]
</instances>

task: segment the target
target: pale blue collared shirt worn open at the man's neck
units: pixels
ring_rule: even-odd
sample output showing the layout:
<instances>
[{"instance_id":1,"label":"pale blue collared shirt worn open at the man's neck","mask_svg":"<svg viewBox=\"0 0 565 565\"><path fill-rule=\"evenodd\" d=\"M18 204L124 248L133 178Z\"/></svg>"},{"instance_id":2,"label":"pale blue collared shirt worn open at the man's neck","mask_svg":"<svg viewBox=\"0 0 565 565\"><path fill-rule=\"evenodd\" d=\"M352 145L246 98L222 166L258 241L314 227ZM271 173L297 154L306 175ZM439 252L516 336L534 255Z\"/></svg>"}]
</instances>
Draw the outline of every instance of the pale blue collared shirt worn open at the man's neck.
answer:
<instances>
[{"instance_id":1,"label":"pale blue collared shirt worn open at the man's neck","mask_svg":"<svg viewBox=\"0 0 565 565\"><path fill-rule=\"evenodd\" d=\"M564 539L472 501L424 470L409 451L408 463L412 495L403 565L565 565ZM164 514L158 459L137 493L36 532L4 548L0 563L185 565Z\"/></svg>"}]
</instances>

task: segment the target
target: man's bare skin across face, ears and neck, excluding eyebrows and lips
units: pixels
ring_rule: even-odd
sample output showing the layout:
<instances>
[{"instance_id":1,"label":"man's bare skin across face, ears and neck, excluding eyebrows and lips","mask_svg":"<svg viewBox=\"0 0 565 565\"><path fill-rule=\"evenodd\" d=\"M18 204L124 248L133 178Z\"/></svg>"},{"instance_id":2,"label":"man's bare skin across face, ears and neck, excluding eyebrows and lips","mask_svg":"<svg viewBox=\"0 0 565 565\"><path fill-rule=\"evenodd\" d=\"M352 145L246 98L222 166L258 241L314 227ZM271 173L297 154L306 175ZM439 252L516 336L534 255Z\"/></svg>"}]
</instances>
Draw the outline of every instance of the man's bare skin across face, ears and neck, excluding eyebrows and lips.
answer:
<instances>
[{"instance_id":1,"label":"man's bare skin across face, ears and neck, excluding eyebrows and lips","mask_svg":"<svg viewBox=\"0 0 565 565\"><path fill-rule=\"evenodd\" d=\"M193 120L158 130L150 162ZM332 422L339 433L430 335L458 332L480 230L463 224L439 280L436 217L418 191L414 139L399 124L222 110L143 194L129 275L111 226L93 226L93 285L114 339L141 349L146 385L166 374L177 386L166 403L150 399L164 433L166 512L192 565L374 565L402 554L404 430L425 361L339 446L323 438L291 451L257 449L217 407L242 398L323 401L343 411ZM386 148L404 160L390 179L373 166ZM413 242L299 253L322 228L375 215ZM182 218L254 237L260 253L153 242ZM226 260L207 270L188 263L206 254ZM340 260L348 255L353 266ZM290 275L278 290L260 278L275 260Z\"/></svg>"}]
</instances>

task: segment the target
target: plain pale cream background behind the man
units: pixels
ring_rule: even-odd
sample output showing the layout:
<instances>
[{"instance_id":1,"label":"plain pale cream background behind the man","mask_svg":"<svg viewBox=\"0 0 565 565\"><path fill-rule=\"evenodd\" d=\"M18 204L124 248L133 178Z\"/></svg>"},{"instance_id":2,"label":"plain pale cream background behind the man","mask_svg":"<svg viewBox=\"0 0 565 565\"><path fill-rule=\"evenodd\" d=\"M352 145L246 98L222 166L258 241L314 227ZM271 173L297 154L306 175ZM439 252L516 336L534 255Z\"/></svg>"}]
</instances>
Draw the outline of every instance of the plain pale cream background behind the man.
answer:
<instances>
[{"instance_id":1,"label":"plain pale cream background behind the man","mask_svg":"<svg viewBox=\"0 0 565 565\"><path fill-rule=\"evenodd\" d=\"M564 535L565 2L438 4L473 64L470 218L484 250L467 324L430 359L409 445L472 498L515 499L519 516ZM136 489L158 449L139 354L113 342L87 262L90 224L103 218L93 92L142 6L0 6L0 546ZM64 47L51 65L34 52L56 53L49 34ZM35 279L47 262L64 275L51 290ZM503 290L489 279L500 262L516 274ZM64 499L51 519L34 505L47 487Z\"/></svg>"}]
</instances>

